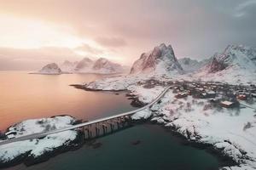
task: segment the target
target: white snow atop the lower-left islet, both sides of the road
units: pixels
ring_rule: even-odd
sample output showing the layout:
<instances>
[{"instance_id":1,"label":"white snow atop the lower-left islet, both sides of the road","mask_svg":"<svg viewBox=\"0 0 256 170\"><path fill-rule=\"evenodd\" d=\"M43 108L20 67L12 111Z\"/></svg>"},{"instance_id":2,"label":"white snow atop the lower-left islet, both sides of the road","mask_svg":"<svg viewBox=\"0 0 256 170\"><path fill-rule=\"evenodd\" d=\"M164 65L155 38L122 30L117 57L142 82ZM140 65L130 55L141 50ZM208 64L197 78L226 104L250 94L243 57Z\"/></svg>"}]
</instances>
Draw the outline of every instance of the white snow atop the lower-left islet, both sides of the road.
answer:
<instances>
[{"instance_id":1,"label":"white snow atop the lower-left islet, both sides of the road","mask_svg":"<svg viewBox=\"0 0 256 170\"><path fill-rule=\"evenodd\" d=\"M9 127L9 131L15 131L16 137L32 133L43 133L50 129L68 127L74 122L71 116L55 116L52 118L31 119L15 124ZM8 132L9 132L8 131ZM50 134L43 139L25 140L10 144L0 145L0 161L8 162L22 154L28 153L28 156L41 156L46 151L55 150L62 145L68 145L76 139L78 133L75 130Z\"/></svg>"}]
</instances>

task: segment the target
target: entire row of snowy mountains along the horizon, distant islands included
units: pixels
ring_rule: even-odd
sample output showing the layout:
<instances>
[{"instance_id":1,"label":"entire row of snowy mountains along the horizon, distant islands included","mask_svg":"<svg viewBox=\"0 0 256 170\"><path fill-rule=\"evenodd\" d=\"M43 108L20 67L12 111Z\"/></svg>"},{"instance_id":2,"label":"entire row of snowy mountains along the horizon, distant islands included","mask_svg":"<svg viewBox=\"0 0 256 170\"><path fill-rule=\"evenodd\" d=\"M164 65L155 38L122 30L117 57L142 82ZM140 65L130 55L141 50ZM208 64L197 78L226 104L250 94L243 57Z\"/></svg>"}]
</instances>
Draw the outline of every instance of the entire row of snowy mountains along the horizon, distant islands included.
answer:
<instances>
[{"instance_id":1,"label":"entire row of snowy mountains along the horizon, distant islands included","mask_svg":"<svg viewBox=\"0 0 256 170\"><path fill-rule=\"evenodd\" d=\"M64 61L45 65L42 74L61 74L61 72L120 73L126 67L108 59L92 60L84 58L79 62ZM198 61L196 59L177 59L171 45L162 43L153 50L141 54L131 66L129 75L165 75L203 79L206 81L248 82L256 75L256 48L230 45L223 52Z\"/></svg>"}]
</instances>

